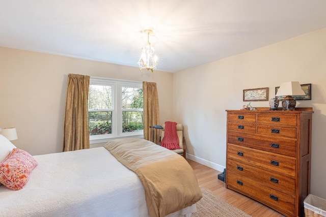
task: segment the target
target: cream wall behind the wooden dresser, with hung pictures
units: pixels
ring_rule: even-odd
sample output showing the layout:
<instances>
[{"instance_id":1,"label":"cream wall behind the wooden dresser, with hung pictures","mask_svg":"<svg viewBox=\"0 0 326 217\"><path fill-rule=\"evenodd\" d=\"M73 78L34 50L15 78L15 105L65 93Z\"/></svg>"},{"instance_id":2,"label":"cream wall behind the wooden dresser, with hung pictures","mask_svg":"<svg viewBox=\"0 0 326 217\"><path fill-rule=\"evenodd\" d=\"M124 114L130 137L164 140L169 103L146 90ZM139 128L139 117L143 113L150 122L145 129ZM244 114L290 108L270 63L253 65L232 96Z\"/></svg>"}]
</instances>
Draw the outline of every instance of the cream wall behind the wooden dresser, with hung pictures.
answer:
<instances>
[{"instance_id":1,"label":"cream wall behind the wooden dresser, with hung pictures","mask_svg":"<svg viewBox=\"0 0 326 217\"><path fill-rule=\"evenodd\" d=\"M173 75L173 119L185 126L188 157L223 169L226 163L226 109L240 109L242 90L275 87L285 81L312 83L311 193L326 198L326 28ZM268 107L268 102L253 102ZM221 171L221 170L220 170Z\"/></svg>"}]
</instances>

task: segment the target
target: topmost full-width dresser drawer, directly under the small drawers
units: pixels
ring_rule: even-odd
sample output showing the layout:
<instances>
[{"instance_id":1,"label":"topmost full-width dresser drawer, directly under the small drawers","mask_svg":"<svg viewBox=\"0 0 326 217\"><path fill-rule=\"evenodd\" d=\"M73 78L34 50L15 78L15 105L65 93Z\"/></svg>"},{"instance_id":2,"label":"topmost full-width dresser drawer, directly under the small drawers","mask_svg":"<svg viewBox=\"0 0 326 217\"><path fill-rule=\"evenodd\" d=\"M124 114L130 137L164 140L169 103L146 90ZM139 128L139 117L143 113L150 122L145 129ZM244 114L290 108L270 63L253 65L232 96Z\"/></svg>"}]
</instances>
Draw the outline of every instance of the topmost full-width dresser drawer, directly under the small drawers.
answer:
<instances>
[{"instance_id":1,"label":"topmost full-width dresser drawer, directly under the small drawers","mask_svg":"<svg viewBox=\"0 0 326 217\"><path fill-rule=\"evenodd\" d=\"M296 140L228 132L228 143L295 157Z\"/></svg>"}]
</instances>

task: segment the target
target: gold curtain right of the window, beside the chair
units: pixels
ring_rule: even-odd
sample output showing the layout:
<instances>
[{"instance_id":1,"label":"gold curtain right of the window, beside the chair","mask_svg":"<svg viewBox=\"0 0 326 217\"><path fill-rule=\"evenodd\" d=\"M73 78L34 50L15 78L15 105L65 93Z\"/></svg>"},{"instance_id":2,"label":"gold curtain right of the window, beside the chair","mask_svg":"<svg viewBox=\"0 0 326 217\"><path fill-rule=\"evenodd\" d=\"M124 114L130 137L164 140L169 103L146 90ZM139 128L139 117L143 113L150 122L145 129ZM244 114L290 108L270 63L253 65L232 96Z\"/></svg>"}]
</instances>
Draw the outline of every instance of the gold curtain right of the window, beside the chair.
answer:
<instances>
[{"instance_id":1,"label":"gold curtain right of the window, beside the chair","mask_svg":"<svg viewBox=\"0 0 326 217\"><path fill-rule=\"evenodd\" d=\"M143 82L143 104L144 104L144 139L152 141L152 129L149 126L159 125L158 119L158 97L156 83ZM154 141L157 144L158 130L154 131Z\"/></svg>"}]
</instances>

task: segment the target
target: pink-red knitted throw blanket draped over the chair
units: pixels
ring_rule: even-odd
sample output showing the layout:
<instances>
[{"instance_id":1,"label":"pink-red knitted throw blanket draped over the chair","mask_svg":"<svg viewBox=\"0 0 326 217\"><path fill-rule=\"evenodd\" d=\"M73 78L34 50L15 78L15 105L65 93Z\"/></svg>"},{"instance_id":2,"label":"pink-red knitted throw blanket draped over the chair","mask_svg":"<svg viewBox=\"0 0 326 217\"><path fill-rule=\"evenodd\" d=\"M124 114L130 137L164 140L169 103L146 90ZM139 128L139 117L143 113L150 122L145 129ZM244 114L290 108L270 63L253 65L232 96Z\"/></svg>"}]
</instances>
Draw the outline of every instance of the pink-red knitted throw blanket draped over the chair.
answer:
<instances>
[{"instance_id":1,"label":"pink-red knitted throw blanket draped over the chair","mask_svg":"<svg viewBox=\"0 0 326 217\"><path fill-rule=\"evenodd\" d=\"M179 149L179 138L177 134L177 123L166 121L164 137L161 142L161 146L170 150Z\"/></svg>"}]
</instances>

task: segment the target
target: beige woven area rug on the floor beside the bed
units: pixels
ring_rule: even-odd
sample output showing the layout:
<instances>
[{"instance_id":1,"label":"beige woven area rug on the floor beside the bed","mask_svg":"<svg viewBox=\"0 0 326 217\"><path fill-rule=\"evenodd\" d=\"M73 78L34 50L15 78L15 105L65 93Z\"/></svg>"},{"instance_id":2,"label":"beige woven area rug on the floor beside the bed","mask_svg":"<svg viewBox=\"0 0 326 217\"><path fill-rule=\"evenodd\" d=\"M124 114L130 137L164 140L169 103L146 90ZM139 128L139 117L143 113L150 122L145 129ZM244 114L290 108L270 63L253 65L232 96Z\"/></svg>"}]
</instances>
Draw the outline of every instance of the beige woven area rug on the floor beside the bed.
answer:
<instances>
[{"instance_id":1,"label":"beige woven area rug on the floor beside the bed","mask_svg":"<svg viewBox=\"0 0 326 217\"><path fill-rule=\"evenodd\" d=\"M196 203L197 212L192 217L251 217L225 200L213 195L212 192L200 187L203 198Z\"/></svg>"}]
</instances>

